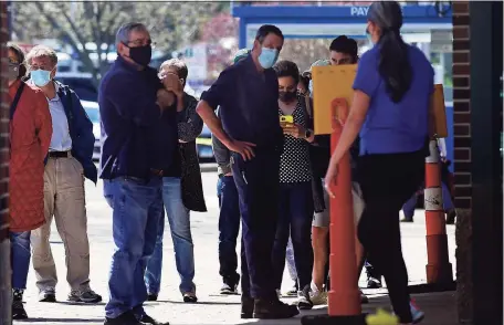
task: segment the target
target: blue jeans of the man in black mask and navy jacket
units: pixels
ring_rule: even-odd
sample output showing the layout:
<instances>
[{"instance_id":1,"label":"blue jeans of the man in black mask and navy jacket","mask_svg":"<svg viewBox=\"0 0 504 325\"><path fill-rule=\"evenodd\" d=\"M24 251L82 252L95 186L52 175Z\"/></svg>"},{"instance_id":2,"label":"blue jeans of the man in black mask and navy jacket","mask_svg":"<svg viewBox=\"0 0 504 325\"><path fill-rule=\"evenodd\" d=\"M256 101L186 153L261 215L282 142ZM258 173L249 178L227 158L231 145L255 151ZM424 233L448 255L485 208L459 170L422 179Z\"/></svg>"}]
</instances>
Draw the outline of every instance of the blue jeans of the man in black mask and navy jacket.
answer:
<instances>
[{"instance_id":1,"label":"blue jeans of the man in black mask and navy jacket","mask_svg":"<svg viewBox=\"0 0 504 325\"><path fill-rule=\"evenodd\" d=\"M108 318L132 311L144 314L147 298L144 273L154 252L159 219L162 218L161 178L141 180L118 177L104 181L104 196L113 209L115 251L108 277Z\"/></svg>"}]
</instances>

